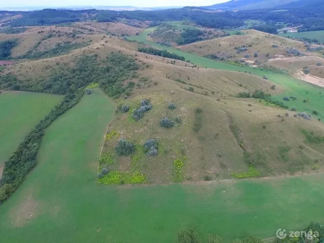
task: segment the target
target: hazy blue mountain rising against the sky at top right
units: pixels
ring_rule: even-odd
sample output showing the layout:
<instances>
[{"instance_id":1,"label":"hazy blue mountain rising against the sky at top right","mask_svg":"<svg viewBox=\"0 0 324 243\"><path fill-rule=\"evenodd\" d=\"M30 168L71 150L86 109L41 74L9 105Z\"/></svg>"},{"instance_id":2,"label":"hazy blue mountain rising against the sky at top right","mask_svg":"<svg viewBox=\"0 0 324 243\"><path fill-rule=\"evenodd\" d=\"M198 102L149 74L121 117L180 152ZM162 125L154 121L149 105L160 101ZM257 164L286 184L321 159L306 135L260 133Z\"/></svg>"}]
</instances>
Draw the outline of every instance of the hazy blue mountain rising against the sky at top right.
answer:
<instances>
[{"instance_id":1,"label":"hazy blue mountain rising against the sky at top right","mask_svg":"<svg viewBox=\"0 0 324 243\"><path fill-rule=\"evenodd\" d=\"M273 9L273 8L294 8L321 3L323 0L231 0L222 4L198 7L203 10L254 10L254 9Z\"/></svg>"}]
</instances>

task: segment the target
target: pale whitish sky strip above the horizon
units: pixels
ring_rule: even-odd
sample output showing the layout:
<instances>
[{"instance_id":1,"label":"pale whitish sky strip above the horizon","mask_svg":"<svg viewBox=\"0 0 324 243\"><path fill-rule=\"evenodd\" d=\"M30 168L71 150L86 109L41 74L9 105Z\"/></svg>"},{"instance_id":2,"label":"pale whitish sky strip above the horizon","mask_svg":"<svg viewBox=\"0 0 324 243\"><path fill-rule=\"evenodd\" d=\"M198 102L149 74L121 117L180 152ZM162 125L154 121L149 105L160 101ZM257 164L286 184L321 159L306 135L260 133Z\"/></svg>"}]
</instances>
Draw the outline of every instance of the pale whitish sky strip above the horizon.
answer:
<instances>
[{"instance_id":1,"label":"pale whitish sky strip above the horizon","mask_svg":"<svg viewBox=\"0 0 324 243\"><path fill-rule=\"evenodd\" d=\"M66 7L66 6L134 6L134 7L169 7L169 6L209 6L229 0L0 0L1 7Z\"/></svg>"}]
</instances>

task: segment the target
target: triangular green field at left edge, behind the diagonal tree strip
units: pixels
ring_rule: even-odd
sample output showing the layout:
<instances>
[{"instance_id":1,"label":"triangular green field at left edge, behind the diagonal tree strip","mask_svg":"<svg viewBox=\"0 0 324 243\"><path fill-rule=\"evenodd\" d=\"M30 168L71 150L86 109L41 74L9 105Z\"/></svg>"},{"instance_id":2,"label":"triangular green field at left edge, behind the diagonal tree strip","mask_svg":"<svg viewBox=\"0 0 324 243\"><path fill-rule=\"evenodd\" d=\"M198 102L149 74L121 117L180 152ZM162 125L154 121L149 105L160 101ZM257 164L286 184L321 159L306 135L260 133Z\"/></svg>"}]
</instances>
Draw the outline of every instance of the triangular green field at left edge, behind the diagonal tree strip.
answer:
<instances>
[{"instance_id":1,"label":"triangular green field at left edge, behind the diagonal tree strip","mask_svg":"<svg viewBox=\"0 0 324 243\"><path fill-rule=\"evenodd\" d=\"M0 95L0 165L61 98L28 92L6 92Z\"/></svg>"}]
</instances>

